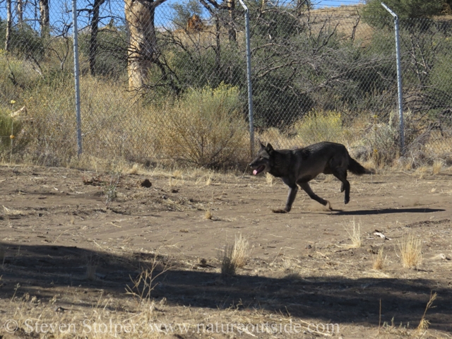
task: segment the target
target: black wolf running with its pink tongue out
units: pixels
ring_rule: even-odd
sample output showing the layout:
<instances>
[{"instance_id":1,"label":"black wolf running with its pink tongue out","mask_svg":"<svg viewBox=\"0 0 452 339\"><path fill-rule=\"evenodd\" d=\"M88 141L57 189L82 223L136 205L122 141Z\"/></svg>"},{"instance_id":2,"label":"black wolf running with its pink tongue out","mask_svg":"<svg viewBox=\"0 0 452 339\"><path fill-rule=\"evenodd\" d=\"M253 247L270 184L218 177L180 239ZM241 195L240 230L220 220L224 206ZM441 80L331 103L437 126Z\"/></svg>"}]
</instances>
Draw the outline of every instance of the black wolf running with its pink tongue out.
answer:
<instances>
[{"instance_id":1,"label":"black wolf running with its pink tongue out","mask_svg":"<svg viewBox=\"0 0 452 339\"><path fill-rule=\"evenodd\" d=\"M254 175L268 172L274 177L283 179L283 182L289 186L289 196L285 208L273 210L275 213L290 211L297 195L297 184L311 199L319 201L323 206L328 205L328 208L331 209L330 203L317 196L308 184L321 173L333 174L342 182L340 191L345 191L344 203L350 201L350 182L347 181L347 170L357 175L371 173L350 157L344 145L326 141L296 150L274 150L270 143L266 146L261 143L261 149L249 167L254 169Z\"/></svg>"}]
</instances>

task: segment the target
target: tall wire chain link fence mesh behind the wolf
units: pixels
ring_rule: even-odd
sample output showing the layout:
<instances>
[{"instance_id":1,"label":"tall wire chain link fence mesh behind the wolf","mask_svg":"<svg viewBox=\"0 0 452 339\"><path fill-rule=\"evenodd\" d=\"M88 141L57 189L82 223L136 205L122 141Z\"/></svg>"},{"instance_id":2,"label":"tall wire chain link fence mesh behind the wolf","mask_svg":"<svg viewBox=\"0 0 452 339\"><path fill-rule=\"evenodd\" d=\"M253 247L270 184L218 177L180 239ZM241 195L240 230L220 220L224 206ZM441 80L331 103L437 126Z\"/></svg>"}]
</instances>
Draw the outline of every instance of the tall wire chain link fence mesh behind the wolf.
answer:
<instances>
[{"instance_id":1,"label":"tall wire chain link fence mesh behind the wolf","mask_svg":"<svg viewBox=\"0 0 452 339\"><path fill-rule=\"evenodd\" d=\"M344 143L376 165L452 161L452 20L246 2L255 142ZM72 2L0 1L0 155L77 158ZM77 1L83 155L198 166L250 158L244 11L233 0Z\"/></svg>"}]
</instances>

